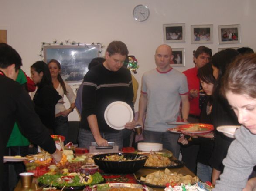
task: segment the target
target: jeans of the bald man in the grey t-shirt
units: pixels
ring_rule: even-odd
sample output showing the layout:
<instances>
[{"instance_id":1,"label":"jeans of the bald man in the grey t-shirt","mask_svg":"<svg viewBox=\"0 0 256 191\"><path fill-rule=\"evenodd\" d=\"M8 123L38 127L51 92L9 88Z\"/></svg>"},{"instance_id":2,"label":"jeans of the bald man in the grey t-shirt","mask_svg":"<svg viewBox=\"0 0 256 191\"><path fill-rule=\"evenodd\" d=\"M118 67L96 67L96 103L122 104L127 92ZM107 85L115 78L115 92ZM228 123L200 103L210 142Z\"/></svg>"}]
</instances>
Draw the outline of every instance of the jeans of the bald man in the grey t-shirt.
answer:
<instances>
[{"instance_id":1,"label":"jeans of the bald man in the grey t-shirt","mask_svg":"<svg viewBox=\"0 0 256 191\"><path fill-rule=\"evenodd\" d=\"M162 143L163 148L171 151L174 157L179 158L180 145L178 144L179 134L171 132L154 132L144 130L144 142Z\"/></svg>"}]
</instances>

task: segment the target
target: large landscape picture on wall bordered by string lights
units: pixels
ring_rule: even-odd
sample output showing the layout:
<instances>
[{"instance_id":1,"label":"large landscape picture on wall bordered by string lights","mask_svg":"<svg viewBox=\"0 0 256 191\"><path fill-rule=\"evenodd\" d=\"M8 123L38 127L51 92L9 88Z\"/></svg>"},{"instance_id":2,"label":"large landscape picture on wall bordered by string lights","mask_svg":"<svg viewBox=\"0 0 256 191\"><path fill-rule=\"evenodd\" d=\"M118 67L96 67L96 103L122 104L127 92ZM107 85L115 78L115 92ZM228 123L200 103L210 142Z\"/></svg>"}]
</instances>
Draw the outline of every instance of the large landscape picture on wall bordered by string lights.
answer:
<instances>
[{"instance_id":1,"label":"large landscape picture on wall bordered by string lights","mask_svg":"<svg viewBox=\"0 0 256 191\"><path fill-rule=\"evenodd\" d=\"M93 58L99 57L101 45L46 45L44 62L56 59L61 63L61 77L67 83L80 83Z\"/></svg>"}]
</instances>

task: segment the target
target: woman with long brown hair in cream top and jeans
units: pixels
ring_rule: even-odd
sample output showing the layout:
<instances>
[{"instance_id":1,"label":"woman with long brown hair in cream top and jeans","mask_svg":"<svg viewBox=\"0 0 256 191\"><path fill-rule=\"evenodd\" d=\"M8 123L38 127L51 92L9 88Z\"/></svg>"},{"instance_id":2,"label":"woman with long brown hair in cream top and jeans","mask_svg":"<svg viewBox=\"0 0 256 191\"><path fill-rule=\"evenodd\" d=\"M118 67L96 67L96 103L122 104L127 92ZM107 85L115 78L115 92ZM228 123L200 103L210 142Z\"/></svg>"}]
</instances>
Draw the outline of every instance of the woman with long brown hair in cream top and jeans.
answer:
<instances>
[{"instance_id":1,"label":"woman with long brown hair in cream top and jeans","mask_svg":"<svg viewBox=\"0 0 256 191\"><path fill-rule=\"evenodd\" d=\"M68 115L75 109L75 94L71 87L61 78L61 64L58 60L52 59L48 62L48 68L51 74L51 82L56 91L61 95L61 99L55 106L55 126L54 133L63 135L67 138L68 135ZM70 107L64 106L64 95L68 98Z\"/></svg>"}]
</instances>

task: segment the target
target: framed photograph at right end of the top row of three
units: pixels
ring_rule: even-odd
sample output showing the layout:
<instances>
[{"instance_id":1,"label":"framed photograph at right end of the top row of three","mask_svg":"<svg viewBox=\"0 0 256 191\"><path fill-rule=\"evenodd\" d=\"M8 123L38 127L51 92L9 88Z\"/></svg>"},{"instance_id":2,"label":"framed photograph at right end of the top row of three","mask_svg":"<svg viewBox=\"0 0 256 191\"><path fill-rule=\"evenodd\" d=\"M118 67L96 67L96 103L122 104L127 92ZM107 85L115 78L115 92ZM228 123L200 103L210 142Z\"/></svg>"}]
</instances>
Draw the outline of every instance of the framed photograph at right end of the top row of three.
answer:
<instances>
[{"instance_id":1,"label":"framed photograph at right end of the top row of three","mask_svg":"<svg viewBox=\"0 0 256 191\"><path fill-rule=\"evenodd\" d=\"M219 25L218 41L220 44L240 43L240 25Z\"/></svg>"}]
</instances>

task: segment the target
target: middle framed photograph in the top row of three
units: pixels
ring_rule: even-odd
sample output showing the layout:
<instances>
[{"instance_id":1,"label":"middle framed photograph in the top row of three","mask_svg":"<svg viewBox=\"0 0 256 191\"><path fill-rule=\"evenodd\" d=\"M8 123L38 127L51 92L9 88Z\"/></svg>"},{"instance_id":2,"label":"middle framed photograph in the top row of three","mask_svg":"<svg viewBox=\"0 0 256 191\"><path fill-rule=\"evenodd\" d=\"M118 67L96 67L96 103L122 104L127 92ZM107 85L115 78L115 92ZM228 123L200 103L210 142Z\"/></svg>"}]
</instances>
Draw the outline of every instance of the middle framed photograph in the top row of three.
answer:
<instances>
[{"instance_id":1,"label":"middle framed photograph in the top row of three","mask_svg":"<svg viewBox=\"0 0 256 191\"><path fill-rule=\"evenodd\" d=\"M213 25L191 25L191 43L213 43Z\"/></svg>"}]
</instances>

